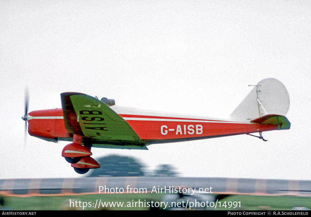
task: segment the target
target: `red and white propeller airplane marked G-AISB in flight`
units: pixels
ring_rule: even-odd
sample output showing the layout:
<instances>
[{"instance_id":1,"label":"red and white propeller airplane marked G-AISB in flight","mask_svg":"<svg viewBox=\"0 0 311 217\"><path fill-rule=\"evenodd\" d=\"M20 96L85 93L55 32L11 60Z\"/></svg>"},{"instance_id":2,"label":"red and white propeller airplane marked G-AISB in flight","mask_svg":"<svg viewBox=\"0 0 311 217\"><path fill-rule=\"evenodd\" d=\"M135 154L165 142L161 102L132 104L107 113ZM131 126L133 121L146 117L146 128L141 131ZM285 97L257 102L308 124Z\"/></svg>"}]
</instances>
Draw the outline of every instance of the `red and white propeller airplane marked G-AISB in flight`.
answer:
<instances>
[{"instance_id":1,"label":"red and white propeller airplane marked G-AISB in flight","mask_svg":"<svg viewBox=\"0 0 311 217\"><path fill-rule=\"evenodd\" d=\"M252 85L249 85L252 86ZM252 91L227 119L129 108L114 100L82 93L61 94L62 108L32 111L27 114L25 131L47 141L72 141L62 156L79 174L99 168L91 147L147 149L147 145L209 139L247 134L262 137L263 131L290 129L285 117L290 99L282 82L266 78L253 85ZM259 133L259 136L251 133Z\"/></svg>"}]
</instances>

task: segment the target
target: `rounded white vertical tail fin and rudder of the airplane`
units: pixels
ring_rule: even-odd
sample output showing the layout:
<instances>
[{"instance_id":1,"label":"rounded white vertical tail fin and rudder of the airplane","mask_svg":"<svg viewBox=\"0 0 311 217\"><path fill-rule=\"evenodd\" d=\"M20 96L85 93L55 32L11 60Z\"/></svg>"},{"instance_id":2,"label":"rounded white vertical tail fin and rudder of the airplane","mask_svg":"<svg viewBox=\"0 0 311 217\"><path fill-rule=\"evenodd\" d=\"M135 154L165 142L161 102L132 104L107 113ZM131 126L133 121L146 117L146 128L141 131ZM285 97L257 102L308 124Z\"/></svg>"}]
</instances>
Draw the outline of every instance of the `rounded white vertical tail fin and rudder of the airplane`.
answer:
<instances>
[{"instance_id":1,"label":"rounded white vertical tail fin and rudder of the airplane","mask_svg":"<svg viewBox=\"0 0 311 217\"><path fill-rule=\"evenodd\" d=\"M256 123L258 120L262 121L260 118L263 116L271 119L272 117L267 116L270 114L277 115L278 117L284 116L288 112L289 107L290 98L284 84L275 78L266 78L258 82L233 111L231 118L241 122L253 120L252 122Z\"/></svg>"}]
</instances>

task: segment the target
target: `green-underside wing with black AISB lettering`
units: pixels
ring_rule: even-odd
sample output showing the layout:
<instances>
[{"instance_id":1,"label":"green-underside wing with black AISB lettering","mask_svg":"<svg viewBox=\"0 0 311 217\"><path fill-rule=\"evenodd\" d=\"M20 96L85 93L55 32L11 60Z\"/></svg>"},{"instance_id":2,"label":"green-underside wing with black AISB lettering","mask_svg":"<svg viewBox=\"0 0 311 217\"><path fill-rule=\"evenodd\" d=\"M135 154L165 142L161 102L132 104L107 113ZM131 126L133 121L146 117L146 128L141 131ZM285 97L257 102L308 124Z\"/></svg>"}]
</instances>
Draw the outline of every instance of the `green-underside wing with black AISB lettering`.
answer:
<instances>
[{"instance_id":1,"label":"green-underside wing with black AISB lettering","mask_svg":"<svg viewBox=\"0 0 311 217\"><path fill-rule=\"evenodd\" d=\"M84 137L139 143L141 139L128 123L102 101L81 93L62 93L66 130Z\"/></svg>"}]
</instances>

